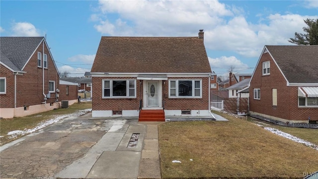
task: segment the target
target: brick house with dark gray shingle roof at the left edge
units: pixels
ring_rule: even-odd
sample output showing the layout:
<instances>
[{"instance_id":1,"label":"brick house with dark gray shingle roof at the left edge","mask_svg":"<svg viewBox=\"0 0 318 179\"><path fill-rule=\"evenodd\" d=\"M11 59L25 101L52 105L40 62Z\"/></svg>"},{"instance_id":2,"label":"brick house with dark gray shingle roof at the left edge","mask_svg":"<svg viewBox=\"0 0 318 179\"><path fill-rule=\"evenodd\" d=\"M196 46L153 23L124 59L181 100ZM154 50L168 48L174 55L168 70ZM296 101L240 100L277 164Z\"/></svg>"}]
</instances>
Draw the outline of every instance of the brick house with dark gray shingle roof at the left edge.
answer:
<instances>
[{"instance_id":1,"label":"brick house with dark gray shingle roof at the left edge","mask_svg":"<svg viewBox=\"0 0 318 179\"><path fill-rule=\"evenodd\" d=\"M60 88L59 72L44 37L0 37L0 117L58 108L64 100Z\"/></svg>"}]
</instances>

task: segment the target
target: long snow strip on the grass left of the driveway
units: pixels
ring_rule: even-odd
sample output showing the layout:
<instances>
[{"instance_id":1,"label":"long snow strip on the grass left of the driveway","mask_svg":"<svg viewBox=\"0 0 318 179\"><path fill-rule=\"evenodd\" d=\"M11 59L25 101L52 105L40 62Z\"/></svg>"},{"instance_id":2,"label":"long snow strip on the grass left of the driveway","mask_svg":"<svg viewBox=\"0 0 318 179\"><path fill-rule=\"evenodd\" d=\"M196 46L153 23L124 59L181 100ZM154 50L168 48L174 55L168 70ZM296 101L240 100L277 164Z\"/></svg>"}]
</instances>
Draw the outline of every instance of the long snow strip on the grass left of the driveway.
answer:
<instances>
[{"instance_id":1,"label":"long snow strip on the grass left of the driveway","mask_svg":"<svg viewBox=\"0 0 318 179\"><path fill-rule=\"evenodd\" d=\"M36 127L32 128L32 129L24 129L22 130L15 130L15 131L10 131L7 133L7 135L9 136L9 139L14 139L16 138L18 135L26 135L26 134L30 134L32 132L35 132L39 129L42 129L48 125L51 125L53 123L56 123L58 121L60 121L61 119L70 117L70 116L81 116L83 114L86 114L87 112L91 111L91 109L83 109L83 110L78 110L75 111L71 114L64 114L64 115L56 115L54 116L54 118L51 118L47 121L44 122L40 122Z\"/></svg>"}]
</instances>

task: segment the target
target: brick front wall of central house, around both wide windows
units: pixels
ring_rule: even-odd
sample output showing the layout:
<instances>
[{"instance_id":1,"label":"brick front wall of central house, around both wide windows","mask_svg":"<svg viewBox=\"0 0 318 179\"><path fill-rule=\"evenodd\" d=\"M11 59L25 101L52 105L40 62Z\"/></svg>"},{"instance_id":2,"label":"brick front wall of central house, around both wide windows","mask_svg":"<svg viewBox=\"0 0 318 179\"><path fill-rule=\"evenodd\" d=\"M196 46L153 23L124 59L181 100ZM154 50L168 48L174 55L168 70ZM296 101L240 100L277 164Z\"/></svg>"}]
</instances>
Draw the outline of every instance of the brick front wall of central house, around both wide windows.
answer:
<instances>
[{"instance_id":1,"label":"brick front wall of central house, around both wide windows","mask_svg":"<svg viewBox=\"0 0 318 179\"><path fill-rule=\"evenodd\" d=\"M104 77L92 77L92 110L138 110L143 99L143 81L137 80L136 98L102 98L102 80ZM107 78L136 79L136 78ZM202 98L168 98L168 81L162 81L162 99L167 110L208 110L209 77L204 78L169 78L169 79L202 79ZM143 100L142 100L143 102Z\"/></svg>"}]
</instances>

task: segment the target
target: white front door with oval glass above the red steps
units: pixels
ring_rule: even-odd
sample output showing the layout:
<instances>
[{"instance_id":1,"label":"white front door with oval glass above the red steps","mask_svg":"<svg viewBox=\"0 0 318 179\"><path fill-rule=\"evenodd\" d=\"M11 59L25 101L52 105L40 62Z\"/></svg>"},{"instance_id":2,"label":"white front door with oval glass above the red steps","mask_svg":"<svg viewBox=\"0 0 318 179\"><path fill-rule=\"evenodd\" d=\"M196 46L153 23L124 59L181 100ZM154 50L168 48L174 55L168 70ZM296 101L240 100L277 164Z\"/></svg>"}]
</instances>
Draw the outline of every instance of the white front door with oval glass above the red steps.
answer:
<instances>
[{"instance_id":1,"label":"white front door with oval glass above the red steps","mask_svg":"<svg viewBox=\"0 0 318 179\"><path fill-rule=\"evenodd\" d=\"M159 81L147 82L147 107L159 107Z\"/></svg>"}]
</instances>

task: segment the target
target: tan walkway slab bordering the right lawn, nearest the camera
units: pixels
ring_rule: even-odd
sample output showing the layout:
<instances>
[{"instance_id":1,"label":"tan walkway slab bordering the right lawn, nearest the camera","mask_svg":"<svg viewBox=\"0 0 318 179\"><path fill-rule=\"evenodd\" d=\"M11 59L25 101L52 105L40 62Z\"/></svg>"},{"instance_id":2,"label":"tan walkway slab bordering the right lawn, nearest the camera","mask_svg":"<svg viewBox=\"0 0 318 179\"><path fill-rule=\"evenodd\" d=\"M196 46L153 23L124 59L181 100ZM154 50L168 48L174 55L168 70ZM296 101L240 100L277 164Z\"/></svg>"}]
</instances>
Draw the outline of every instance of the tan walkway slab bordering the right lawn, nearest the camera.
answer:
<instances>
[{"instance_id":1,"label":"tan walkway slab bordering the right lawn, nearest the camera","mask_svg":"<svg viewBox=\"0 0 318 179\"><path fill-rule=\"evenodd\" d=\"M159 159L141 159L138 179L161 179Z\"/></svg>"}]
</instances>

